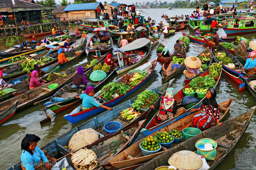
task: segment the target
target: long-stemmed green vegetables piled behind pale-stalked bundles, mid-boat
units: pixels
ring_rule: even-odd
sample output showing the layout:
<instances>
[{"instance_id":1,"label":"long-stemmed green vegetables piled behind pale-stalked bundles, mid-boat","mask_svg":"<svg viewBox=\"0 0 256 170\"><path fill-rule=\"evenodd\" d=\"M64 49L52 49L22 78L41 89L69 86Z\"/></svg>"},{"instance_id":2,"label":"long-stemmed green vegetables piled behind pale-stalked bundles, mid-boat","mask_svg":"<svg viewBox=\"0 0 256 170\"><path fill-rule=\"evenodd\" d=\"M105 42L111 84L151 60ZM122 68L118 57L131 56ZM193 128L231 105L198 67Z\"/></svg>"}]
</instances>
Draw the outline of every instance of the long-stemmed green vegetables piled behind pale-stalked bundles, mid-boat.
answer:
<instances>
[{"instance_id":1,"label":"long-stemmed green vegetables piled behind pale-stalked bundles, mid-boat","mask_svg":"<svg viewBox=\"0 0 256 170\"><path fill-rule=\"evenodd\" d=\"M156 100L159 98L159 95L156 94L153 91L150 90L145 90L142 91L137 99L132 103L132 107L136 110L139 111L141 108L147 109L150 107L152 104L156 102Z\"/></svg>"}]
</instances>

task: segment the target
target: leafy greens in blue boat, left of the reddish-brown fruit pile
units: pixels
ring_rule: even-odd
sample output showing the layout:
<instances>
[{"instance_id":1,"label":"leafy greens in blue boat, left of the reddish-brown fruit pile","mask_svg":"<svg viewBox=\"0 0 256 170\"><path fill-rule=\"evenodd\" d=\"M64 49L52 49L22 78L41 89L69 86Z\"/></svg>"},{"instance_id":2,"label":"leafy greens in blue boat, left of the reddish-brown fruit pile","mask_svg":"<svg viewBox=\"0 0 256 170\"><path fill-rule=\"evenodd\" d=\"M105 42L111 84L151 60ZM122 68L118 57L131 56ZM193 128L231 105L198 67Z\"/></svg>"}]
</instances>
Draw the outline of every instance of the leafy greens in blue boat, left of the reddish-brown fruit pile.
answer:
<instances>
[{"instance_id":1,"label":"leafy greens in blue boat, left of the reddish-brown fruit pile","mask_svg":"<svg viewBox=\"0 0 256 170\"><path fill-rule=\"evenodd\" d=\"M111 88L110 88L111 87ZM110 82L104 85L100 91L100 94L110 88L106 93L102 95L102 99L112 100L114 99L113 95L117 93L118 95L126 94L131 88L122 83Z\"/></svg>"}]
</instances>

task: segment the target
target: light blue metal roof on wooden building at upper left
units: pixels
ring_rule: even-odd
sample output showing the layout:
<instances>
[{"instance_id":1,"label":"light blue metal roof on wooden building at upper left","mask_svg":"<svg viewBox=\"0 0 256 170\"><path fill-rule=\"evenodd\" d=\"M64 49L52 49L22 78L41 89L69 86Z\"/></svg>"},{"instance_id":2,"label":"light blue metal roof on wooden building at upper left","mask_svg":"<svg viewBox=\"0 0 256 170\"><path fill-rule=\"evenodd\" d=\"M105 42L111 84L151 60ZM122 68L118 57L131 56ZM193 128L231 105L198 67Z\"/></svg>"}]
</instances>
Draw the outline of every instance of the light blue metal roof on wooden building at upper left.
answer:
<instances>
[{"instance_id":1,"label":"light blue metal roof on wooden building at upper left","mask_svg":"<svg viewBox=\"0 0 256 170\"><path fill-rule=\"evenodd\" d=\"M69 4L63 11L96 10L100 3Z\"/></svg>"}]
</instances>

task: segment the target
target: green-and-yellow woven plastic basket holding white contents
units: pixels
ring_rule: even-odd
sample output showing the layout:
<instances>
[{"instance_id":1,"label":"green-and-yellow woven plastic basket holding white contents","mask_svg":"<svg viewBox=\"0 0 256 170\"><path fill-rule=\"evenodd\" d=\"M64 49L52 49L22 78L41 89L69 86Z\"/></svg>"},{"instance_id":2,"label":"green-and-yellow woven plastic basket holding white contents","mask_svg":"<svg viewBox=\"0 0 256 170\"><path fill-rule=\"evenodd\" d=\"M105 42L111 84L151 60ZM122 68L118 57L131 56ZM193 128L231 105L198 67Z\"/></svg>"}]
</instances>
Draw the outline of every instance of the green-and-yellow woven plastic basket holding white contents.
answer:
<instances>
[{"instance_id":1,"label":"green-and-yellow woven plastic basket holding white contents","mask_svg":"<svg viewBox=\"0 0 256 170\"><path fill-rule=\"evenodd\" d=\"M201 144L204 145L208 142L211 143L212 146L214 147L212 150L201 150L201 149L198 148L199 145L201 145ZM210 138L202 138L202 139L200 139L196 142L195 146L196 146L196 149L197 149L197 152L196 152L197 154L204 156L204 158L206 160L215 160L216 148L218 146L218 144L215 140L212 140Z\"/></svg>"}]
</instances>

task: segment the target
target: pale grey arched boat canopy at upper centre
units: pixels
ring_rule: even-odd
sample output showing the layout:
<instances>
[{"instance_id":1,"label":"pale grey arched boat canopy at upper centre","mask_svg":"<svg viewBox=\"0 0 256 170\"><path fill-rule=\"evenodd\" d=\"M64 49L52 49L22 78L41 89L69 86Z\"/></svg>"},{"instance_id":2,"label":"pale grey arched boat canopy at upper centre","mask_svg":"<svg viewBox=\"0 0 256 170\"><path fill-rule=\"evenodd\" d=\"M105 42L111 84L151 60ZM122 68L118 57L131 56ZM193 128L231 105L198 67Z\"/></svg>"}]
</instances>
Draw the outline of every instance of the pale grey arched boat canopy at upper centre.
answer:
<instances>
[{"instance_id":1,"label":"pale grey arched boat canopy at upper centre","mask_svg":"<svg viewBox=\"0 0 256 170\"><path fill-rule=\"evenodd\" d=\"M135 49L142 48L142 47L144 47L145 45L147 45L150 42L151 41L148 40L147 38L140 38L140 39L134 40L131 43L128 43L124 47L115 49L114 52L115 51L122 51L122 52L132 51L132 50L135 50Z\"/></svg>"}]
</instances>

